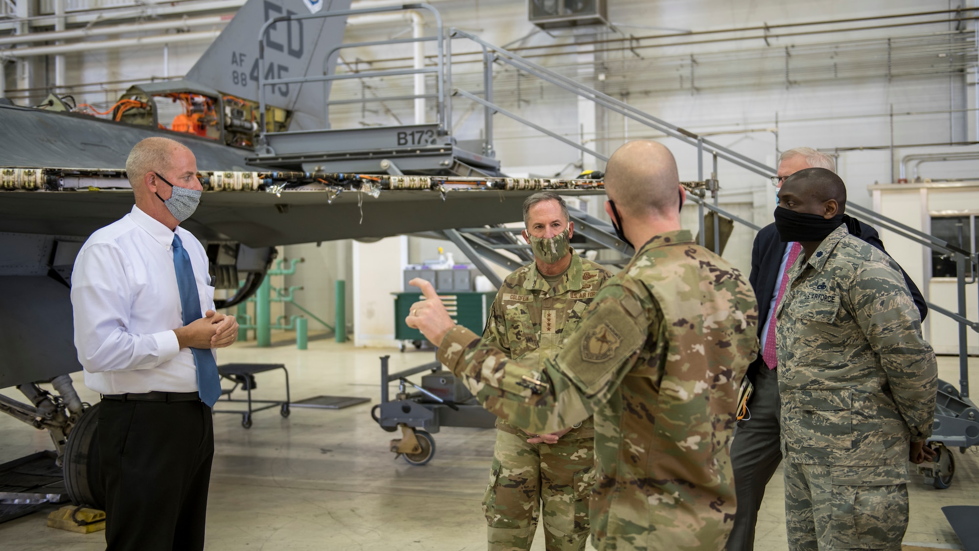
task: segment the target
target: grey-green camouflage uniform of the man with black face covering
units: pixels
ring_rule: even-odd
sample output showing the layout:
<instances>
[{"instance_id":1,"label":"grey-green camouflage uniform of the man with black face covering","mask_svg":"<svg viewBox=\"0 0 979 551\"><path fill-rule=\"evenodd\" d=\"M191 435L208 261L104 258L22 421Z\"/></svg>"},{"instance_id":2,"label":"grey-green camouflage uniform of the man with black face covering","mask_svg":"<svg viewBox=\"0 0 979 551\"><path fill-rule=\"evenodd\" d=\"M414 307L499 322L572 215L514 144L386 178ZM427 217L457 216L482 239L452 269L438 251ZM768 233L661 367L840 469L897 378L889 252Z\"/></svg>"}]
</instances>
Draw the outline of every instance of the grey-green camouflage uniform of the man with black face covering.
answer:
<instances>
[{"instance_id":1,"label":"grey-green camouflage uniform of the man with black face covering","mask_svg":"<svg viewBox=\"0 0 979 551\"><path fill-rule=\"evenodd\" d=\"M850 235L802 255L776 311L789 549L901 550L911 441L931 435L937 364L901 269Z\"/></svg>"}]
</instances>

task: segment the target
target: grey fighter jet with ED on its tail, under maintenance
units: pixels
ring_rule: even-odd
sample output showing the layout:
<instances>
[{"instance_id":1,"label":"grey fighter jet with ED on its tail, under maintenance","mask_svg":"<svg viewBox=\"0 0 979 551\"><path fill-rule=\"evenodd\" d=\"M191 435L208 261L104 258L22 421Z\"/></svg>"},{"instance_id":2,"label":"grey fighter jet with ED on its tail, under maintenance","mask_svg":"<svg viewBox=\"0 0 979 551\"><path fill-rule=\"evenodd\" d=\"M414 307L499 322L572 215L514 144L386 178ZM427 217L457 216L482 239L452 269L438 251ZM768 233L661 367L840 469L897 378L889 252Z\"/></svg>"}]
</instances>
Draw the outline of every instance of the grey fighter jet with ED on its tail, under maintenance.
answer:
<instances>
[{"instance_id":1,"label":"grey fighter jet with ED on its tail, under maintenance","mask_svg":"<svg viewBox=\"0 0 979 551\"><path fill-rule=\"evenodd\" d=\"M402 9L434 12L389 10ZM0 388L30 401L0 395L0 411L51 433L75 503L99 507L103 496L97 406L80 402L69 376L81 370L71 267L92 231L131 209L124 168L139 140L166 136L197 157L206 191L183 226L205 243L215 286L235 289L219 308L256 291L277 245L499 225L522 220L536 189L602 192L600 179L506 177L491 155L459 146L446 124L441 23L425 38L440 52L437 122L330 128L346 18L381 10L249 0L184 79L134 85L105 112L56 95L35 107L0 103L0 285L11 290L0 294ZM609 226L578 216L615 241Z\"/></svg>"}]
</instances>

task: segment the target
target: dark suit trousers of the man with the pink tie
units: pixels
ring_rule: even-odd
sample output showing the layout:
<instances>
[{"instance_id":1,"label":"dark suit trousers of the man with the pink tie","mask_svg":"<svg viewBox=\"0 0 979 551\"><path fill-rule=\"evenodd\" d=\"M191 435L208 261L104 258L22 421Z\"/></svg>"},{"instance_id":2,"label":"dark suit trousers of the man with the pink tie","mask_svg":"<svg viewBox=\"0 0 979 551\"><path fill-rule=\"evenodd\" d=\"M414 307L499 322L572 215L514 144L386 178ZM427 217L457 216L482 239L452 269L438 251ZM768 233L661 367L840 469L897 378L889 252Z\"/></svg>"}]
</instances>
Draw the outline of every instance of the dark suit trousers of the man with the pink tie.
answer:
<instances>
[{"instance_id":1,"label":"dark suit trousers of the man with the pink tie","mask_svg":"<svg viewBox=\"0 0 979 551\"><path fill-rule=\"evenodd\" d=\"M751 418L738 422L731 444L731 468L737 511L727 537L727 551L752 551L755 525L765 497L765 486L782 461L778 441L778 374L761 357L749 371L755 372L755 391L748 401Z\"/></svg>"}]
</instances>

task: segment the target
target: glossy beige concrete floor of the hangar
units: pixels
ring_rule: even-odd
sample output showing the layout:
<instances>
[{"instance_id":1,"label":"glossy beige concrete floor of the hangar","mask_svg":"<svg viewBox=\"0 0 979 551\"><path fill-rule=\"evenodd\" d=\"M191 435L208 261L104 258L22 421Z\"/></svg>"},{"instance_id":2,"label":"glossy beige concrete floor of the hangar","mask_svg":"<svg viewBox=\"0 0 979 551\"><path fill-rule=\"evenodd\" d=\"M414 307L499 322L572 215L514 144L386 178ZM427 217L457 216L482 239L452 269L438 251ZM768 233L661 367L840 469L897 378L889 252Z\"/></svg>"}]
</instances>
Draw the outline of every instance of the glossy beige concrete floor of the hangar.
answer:
<instances>
[{"instance_id":1,"label":"glossy beige concrete floor of the hangar","mask_svg":"<svg viewBox=\"0 0 979 551\"><path fill-rule=\"evenodd\" d=\"M410 348L409 348L410 350ZM208 545L211 551L242 549L444 550L486 548L480 501L489 475L492 429L447 427L435 435L437 452L424 467L395 460L385 432L370 418L379 399L379 356L391 355L392 371L431 361L431 352L355 349L330 340L258 349L236 344L219 352L219 363L284 363L293 399L318 394L370 397L370 404L345 410L294 408L289 419L277 410L256 414L245 429L237 415L214 418L215 457L210 481ZM979 387L979 359L970 361ZM940 374L957 381L957 358L940 359ZM80 374L76 374L80 375ZM80 382L83 400L98 396ZM257 376L256 398L282 394L281 376ZM23 399L8 388L4 393ZM0 463L52 449L45 432L0 416ZM947 490L909 484L910 525L906 545L960 549L941 512L945 505L979 505L979 454L960 455ZM781 472L769 483L758 525L756 549L784 550ZM0 547L16 550L97 550L104 532L78 534L49 528L51 509L0 525ZM591 548L590 546L588 547ZM543 550L538 532L535 551Z\"/></svg>"}]
</instances>

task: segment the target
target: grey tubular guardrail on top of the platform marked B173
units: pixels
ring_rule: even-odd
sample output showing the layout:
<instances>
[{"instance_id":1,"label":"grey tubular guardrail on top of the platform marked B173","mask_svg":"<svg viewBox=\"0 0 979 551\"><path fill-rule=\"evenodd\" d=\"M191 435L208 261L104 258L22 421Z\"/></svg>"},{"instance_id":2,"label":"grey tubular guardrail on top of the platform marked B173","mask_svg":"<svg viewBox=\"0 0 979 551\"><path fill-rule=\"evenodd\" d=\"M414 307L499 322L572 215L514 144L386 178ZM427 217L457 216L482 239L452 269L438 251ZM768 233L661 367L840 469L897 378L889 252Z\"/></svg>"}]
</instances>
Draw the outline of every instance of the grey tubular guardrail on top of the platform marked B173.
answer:
<instances>
[{"instance_id":1,"label":"grey tubular guardrail on top of the platform marked B173","mask_svg":"<svg viewBox=\"0 0 979 551\"><path fill-rule=\"evenodd\" d=\"M264 78L264 67L265 67L265 33L270 25L275 25L277 23L288 23L291 21L302 21L309 19L322 19L322 18L336 18L336 17L346 17L354 16L360 14L377 14L384 12L403 12L410 10L428 10L432 13L436 20L437 34L435 36L435 41L438 46L438 56L436 61L436 68L430 69L413 69L408 71L396 70L396 71L375 71L370 72L376 76L381 75L416 75L418 73L437 73L438 77L438 88L439 88L439 130L440 132L445 132L445 80L444 80L444 42L445 33L443 32L442 25L442 15L439 10L436 10L430 4L402 4L400 6L381 6L377 8L363 8L359 10L338 10L336 12L319 12L316 14L303 14L303 15L286 15L272 18L266 21L261 28L258 30L258 132L259 141L264 141L264 135L268 132L265 131L265 88L269 85L274 84L285 84L293 82L321 82L327 80L339 80L345 78L361 78L369 76L368 73L354 73L350 75L316 75L316 76L303 76L296 79L293 78L279 78L265 80ZM406 39L406 38L396 38L392 41L378 41L378 43L400 43L404 41L419 41L417 39ZM332 55L332 53L331 53Z\"/></svg>"}]
</instances>

